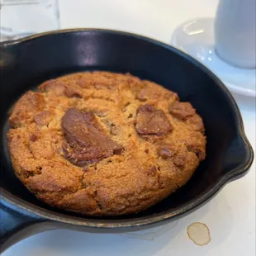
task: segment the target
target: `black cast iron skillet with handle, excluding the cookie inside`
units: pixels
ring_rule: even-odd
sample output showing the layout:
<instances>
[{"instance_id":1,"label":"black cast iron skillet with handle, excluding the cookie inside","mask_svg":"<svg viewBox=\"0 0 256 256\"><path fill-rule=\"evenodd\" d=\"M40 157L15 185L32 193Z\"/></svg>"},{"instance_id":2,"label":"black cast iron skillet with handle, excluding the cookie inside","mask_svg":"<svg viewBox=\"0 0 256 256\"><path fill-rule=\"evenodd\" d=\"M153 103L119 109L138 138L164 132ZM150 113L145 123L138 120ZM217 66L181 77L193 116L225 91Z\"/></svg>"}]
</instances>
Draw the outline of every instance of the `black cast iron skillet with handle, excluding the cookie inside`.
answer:
<instances>
[{"instance_id":1,"label":"black cast iron skillet with handle, excluding the cookie inside","mask_svg":"<svg viewBox=\"0 0 256 256\"><path fill-rule=\"evenodd\" d=\"M253 150L230 92L197 60L155 40L119 31L69 30L1 45L1 244L2 250L42 230L78 227L123 232L173 220L211 199L246 173ZM130 72L178 92L206 126L207 157L187 185L137 215L96 218L59 211L38 201L14 176L7 150L7 118L21 94L39 83L81 70Z\"/></svg>"}]
</instances>

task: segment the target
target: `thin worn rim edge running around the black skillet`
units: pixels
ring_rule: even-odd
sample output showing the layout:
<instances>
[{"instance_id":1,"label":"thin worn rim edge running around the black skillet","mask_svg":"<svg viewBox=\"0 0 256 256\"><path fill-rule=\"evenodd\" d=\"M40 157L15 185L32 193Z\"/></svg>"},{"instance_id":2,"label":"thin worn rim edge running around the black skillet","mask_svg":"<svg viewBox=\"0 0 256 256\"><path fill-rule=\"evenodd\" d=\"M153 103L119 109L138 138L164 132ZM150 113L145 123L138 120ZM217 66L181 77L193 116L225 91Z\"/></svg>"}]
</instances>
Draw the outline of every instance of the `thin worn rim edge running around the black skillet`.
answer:
<instances>
[{"instance_id":1,"label":"thin worn rim edge running around the black skillet","mask_svg":"<svg viewBox=\"0 0 256 256\"><path fill-rule=\"evenodd\" d=\"M217 78L214 73L212 73L209 69L207 69L203 64L199 63L197 59L194 59L191 56L186 55L182 51L175 49L173 46L167 45L163 42L151 39L146 36L140 36L134 33L124 32L124 31L114 31L114 30L97 29L97 28L78 28L78 29L65 29L65 30L44 32L44 33L36 34L34 36L22 38L19 40L2 42L0 43L0 47L2 48L2 47L8 47L10 45L18 45L18 44L26 43L27 41L36 40L38 38L45 37L45 36L53 36L53 35L65 34L65 33L83 33L83 32L89 32L89 33L100 32L100 33L107 33L107 34L116 34L120 36L130 36L138 40L145 40L151 44L164 47L167 50L172 50L174 53L187 59L187 61L192 62L192 64L197 65L199 69L207 73L207 75L209 75L210 78L213 79L216 86L218 86L221 89L221 91L224 93L226 100L230 102L230 106L235 116L236 136L241 138L244 145L244 153L246 154L244 163L241 163L239 164L238 167L229 170L221 178L219 178L219 180L213 186L211 186L206 192L202 193L200 196L196 197L193 201L189 203L185 203L182 206L179 206L173 210L164 211L162 213L158 213L152 216L145 216L145 217L139 217L134 219L126 219L126 220L93 220L93 219L87 219L86 217L69 216L68 214L64 215L62 213L57 213L55 211L50 211L40 206L33 205L28 201L25 201L19 197L12 195L12 193L7 192L7 190L1 187L1 197L7 202L8 205L11 205L13 207L18 207L19 210L27 211L32 215L34 214L37 217L42 218L43 220L58 221L64 224L79 225L79 226L85 226L90 228L105 228L105 229L138 227L138 226L158 223L159 221L170 220L170 219L182 216L186 213L189 213L190 211L206 203L206 201L209 201L211 197L215 196L216 193L220 191L221 187L225 186L226 183L230 182L235 178L239 178L240 176L246 173L246 171L249 169L249 167L253 163L254 151L252 149L252 146L249 143L249 140L245 135L242 116L240 114L239 107L235 102L235 99L232 97L229 90L225 88L225 85L222 82L220 82L220 79Z\"/></svg>"}]
</instances>

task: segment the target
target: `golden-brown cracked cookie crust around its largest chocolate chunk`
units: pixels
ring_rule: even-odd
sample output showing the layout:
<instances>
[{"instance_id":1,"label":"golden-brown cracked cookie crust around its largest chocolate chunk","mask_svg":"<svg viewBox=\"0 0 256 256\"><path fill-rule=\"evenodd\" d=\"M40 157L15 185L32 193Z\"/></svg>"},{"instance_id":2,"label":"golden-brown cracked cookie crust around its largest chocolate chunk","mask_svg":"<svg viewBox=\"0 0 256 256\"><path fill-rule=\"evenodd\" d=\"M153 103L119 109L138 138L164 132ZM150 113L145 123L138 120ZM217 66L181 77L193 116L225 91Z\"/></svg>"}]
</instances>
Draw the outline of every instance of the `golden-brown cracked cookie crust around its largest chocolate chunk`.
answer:
<instances>
[{"instance_id":1,"label":"golden-brown cracked cookie crust around its largest chocolate chunk","mask_svg":"<svg viewBox=\"0 0 256 256\"><path fill-rule=\"evenodd\" d=\"M201 117L156 83L95 71L56 78L39 89L17 102L7 137L17 177L51 206L95 216L143 211L187 183L206 156ZM104 150L121 145L119 154L104 151L97 162L74 164L64 143L76 145L80 130L65 141L61 126L72 108L91 116L97 123L91 130L102 127L97 132L107 141ZM78 140L79 147L90 143L87 158L97 153L91 138Z\"/></svg>"}]
</instances>

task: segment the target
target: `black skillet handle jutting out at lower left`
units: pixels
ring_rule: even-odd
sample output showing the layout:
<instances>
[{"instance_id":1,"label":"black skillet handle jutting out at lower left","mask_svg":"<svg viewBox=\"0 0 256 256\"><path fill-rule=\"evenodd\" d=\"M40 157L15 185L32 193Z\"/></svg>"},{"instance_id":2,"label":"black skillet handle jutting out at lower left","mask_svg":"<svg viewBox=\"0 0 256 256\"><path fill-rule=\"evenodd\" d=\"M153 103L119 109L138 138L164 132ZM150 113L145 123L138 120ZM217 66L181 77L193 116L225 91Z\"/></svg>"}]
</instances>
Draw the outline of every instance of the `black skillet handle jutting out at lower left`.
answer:
<instances>
[{"instance_id":1,"label":"black skillet handle jutting out at lower left","mask_svg":"<svg viewBox=\"0 0 256 256\"><path fill-rule=\"evenodd\" d=\"M1 196L0 255L12 244L45 230L40 227L40 224L43 224L44 222L45 220L43 218L40 218L31 212L23 211L21 208L13 205Z\"/></svg>"}]
</instances>

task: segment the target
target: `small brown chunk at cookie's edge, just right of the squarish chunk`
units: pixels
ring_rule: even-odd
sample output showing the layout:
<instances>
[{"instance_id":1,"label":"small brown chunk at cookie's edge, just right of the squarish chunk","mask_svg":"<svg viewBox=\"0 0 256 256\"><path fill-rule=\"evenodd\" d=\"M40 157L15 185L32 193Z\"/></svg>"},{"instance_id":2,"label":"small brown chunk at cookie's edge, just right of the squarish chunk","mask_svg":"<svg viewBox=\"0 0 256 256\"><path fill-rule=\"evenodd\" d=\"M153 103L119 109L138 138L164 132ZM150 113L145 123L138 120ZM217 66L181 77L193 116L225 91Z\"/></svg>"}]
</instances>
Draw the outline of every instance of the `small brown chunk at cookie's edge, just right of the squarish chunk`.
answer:
<instances>
[{"instance_id":1,"label":"small brown chunk at cookie's edge, just right of the squarish chunk","mask_svg":"<svg viewBox=\"0 0 256 256\"><path fill-rule=\"evenodd\" d=\"M195 109L189 102L174 102L169 107L169 112L181 120L187 120L188 117L196 114Z\"/></svg>"}]
</instances>

